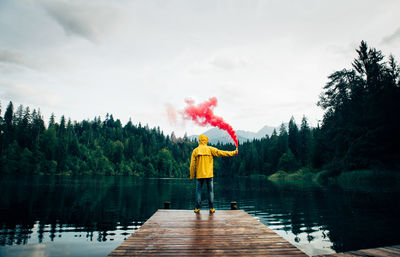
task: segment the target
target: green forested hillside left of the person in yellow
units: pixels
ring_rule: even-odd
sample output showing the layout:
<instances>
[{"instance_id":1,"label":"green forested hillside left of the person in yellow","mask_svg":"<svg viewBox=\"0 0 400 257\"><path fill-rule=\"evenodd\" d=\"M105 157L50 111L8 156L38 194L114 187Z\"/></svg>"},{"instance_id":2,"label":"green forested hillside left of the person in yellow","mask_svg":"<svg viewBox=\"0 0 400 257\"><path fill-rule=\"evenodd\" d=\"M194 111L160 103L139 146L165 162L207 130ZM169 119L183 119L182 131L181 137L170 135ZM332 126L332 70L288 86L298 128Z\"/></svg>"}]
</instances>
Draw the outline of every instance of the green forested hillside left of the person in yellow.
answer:
<instances>
[{"instance_id":1,"label":"green forested hillside left of the person in yellow","mask_svg":"<svg viewBox=\"0 0 400 257\"><path fill-rule=\"evenodd\" d=\"M194 143L164 136L159 128L104 121L72 123L10 102L1 120L1 172L19 174L182 177Z\"/></svg>"}]
</instances>

